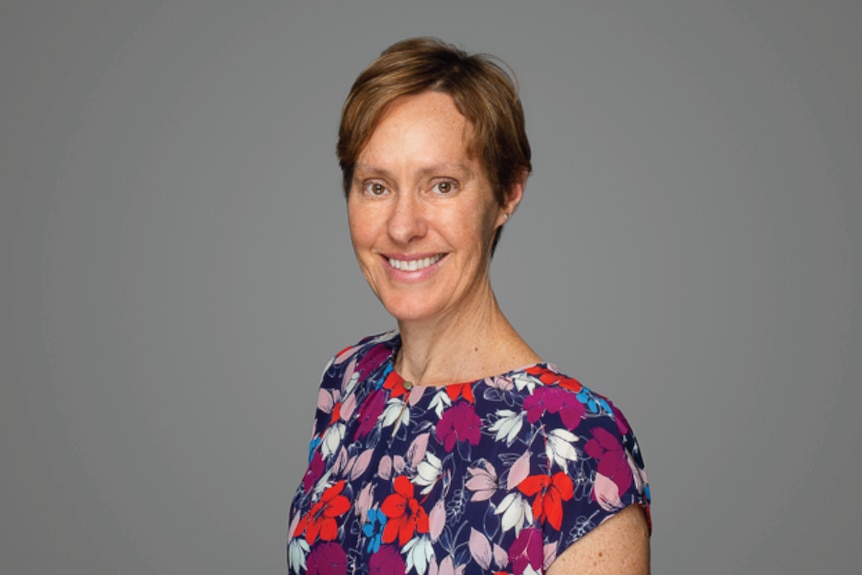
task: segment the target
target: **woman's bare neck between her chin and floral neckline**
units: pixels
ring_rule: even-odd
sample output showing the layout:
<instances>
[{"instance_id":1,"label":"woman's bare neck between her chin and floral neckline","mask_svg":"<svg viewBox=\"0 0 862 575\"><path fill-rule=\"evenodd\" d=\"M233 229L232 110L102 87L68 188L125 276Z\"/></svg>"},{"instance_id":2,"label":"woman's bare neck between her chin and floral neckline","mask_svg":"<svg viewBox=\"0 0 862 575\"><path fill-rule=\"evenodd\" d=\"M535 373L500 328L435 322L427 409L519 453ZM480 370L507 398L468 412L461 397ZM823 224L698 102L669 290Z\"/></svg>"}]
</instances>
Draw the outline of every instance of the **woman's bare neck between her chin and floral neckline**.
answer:
<instances>
[{"instance_id":1,"label":"woman's bare neck between her chin and floral neckline","mask_svg":"<svg viewBox=\"0 0 862 575\"><path fill-rule=\"evenodd\" d=\"M541 361L500 310L493 292L457 314L399 321L395 370L414 385L475 381Z\"/></svg>"}]
</instances>

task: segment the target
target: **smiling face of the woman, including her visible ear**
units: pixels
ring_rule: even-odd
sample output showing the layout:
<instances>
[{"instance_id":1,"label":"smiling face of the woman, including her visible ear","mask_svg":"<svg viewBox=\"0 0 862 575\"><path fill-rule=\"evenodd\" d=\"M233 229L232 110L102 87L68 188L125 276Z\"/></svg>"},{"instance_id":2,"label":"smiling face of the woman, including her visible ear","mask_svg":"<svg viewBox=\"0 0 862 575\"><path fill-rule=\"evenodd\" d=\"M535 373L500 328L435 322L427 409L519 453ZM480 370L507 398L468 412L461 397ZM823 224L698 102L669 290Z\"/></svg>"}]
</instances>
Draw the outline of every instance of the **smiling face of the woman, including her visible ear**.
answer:
<instances>
[{"instance_id":1,"label":"smiling face of the woman, including her visible ear","mask_svg":"<svg viewBox=\"0 0 862 575\"><path fill-rule=\"evenodd\" d=\"M490 296L494 231L514 209L494 199L470 125L451 96L391 105L359 154L347 199L350 234L371 289L399 321L477 309Z\"/></svg>"}]
</instances>

